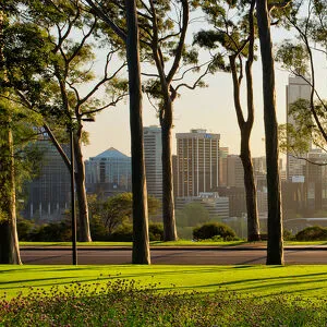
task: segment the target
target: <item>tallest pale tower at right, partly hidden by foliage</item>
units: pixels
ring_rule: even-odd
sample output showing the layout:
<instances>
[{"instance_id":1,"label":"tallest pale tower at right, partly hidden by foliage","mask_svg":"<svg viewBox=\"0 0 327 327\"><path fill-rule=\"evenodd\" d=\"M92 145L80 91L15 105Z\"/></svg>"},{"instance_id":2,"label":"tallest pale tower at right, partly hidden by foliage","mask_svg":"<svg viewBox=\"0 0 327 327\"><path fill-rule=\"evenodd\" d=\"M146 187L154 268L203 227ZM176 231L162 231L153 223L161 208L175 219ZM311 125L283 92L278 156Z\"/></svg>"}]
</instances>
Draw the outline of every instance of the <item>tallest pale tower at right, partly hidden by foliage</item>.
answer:
<instances>
[{"instance_id":1,"label":"tallest pale tower at right, partly hidden by foliage","mask_svg":"<svg viewBox=\"0 0 327 327\"><path fill-rule=\"evenodd\" d=\"M290 76L287 85L287 123L296 125L294 118L290 114L290 106L299 99L310 100L311 86L302 77ZM304 154L303 156L306 156ZM289 181L302 180L304 175L305 161L287 155L287 178Z\"/></svg>"}]
</instances>

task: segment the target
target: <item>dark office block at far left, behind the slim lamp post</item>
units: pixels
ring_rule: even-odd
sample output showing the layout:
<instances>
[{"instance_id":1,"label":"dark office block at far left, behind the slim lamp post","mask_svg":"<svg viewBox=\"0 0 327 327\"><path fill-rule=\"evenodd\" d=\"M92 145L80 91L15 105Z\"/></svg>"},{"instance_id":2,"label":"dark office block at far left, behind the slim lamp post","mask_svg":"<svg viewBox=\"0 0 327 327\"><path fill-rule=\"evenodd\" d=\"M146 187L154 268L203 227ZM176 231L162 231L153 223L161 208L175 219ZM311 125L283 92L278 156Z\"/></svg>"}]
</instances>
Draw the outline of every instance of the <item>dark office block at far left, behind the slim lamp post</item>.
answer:
<instances>
[{"instance_id":1,"label":"dark office block at far left, behind the slim lamp post","mask_svg":"<svg viewBox=\"0 0 327 327\"><path fill-rule=\"evenodd\" d=\"M71 175L55 145L45 134L35 143L43 153L39 175L26 184L23 216L39 221L60 220L71 203ZM70 157L69 146L61 145Z\"/></svg>"}]
</instances>

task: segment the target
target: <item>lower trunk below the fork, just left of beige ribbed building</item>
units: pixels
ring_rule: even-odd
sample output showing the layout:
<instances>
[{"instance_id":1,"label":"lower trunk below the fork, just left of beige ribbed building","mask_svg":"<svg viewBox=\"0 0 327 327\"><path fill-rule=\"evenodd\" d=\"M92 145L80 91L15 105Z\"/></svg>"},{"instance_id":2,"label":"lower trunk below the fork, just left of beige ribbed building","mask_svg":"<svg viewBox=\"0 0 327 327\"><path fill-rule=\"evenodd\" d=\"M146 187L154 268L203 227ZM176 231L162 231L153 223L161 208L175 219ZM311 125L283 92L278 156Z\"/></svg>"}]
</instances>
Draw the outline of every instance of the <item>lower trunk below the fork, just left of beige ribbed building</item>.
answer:
<instances>
[{"instance_id":1,"label":"lower trunk below the fork, just left of beige ribbed building","mask_svg":"<svg viewBox=\"0 0 327 327\"><path fill-rule=\"evenodd\" d=\"M169 114L170 113L170 114ZM172 117L172 104L168 104L165 109L165 118ZM172 157L171 157L171 120L161 121L161 143L162 143L162 220L164 241L175 241L177 229L174 218L173 180L172 180Z\"/></svg>"}]
</instances>

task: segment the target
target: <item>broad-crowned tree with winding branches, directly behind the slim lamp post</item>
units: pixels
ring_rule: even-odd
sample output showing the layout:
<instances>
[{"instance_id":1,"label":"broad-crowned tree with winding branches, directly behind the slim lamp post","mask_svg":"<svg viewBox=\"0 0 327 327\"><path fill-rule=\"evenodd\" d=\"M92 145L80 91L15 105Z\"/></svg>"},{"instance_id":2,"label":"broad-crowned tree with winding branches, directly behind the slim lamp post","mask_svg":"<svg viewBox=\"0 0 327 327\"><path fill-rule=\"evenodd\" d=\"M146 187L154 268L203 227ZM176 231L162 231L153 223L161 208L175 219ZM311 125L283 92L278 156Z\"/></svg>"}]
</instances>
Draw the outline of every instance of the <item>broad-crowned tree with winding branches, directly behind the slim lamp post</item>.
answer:
<instances>
[{"instance_id":1,"label":"broad-crowned tree with winding branches, directly behind the slim lamp post","mask_svg":"<svg viewBox=\"0 0 327 327\"><path fill-rule=\"evenodd\" d=\"M82 154L82 142L86 141L87 136L83 130L83 121L94 118L106 108L116 106L126 94L126 83L119 78L126 63L120 60L119 64L111 68L112 60L120 51L121 43L107 32L105 34L104 26L97 17L78 0L34 0L24 2L22 10L24 13L17 15L13 28L29 25L38 28L40 33L39 38L35 39L35 47L46 59L40 72L28 72L24 65L9 66L10 80L15 86L19 100L26 108L44 116L45 129L69 169L71 169L69 156L62 150L56 133L47 122L61 126L61 131L64 128L73 133L80 240L92 241ZM16 50L21 47L17 36L20 34L12 34L12 41L7 47L8 57L13 58L8 60L8 64L15 61ZM26 45L23 41L24 44ZM47 49L44 49L44 45ZM93 68L96 49L106 53L102 73L97 73ZM111 97L100 100L104 92Z\"/></svg>"}]
</instances>

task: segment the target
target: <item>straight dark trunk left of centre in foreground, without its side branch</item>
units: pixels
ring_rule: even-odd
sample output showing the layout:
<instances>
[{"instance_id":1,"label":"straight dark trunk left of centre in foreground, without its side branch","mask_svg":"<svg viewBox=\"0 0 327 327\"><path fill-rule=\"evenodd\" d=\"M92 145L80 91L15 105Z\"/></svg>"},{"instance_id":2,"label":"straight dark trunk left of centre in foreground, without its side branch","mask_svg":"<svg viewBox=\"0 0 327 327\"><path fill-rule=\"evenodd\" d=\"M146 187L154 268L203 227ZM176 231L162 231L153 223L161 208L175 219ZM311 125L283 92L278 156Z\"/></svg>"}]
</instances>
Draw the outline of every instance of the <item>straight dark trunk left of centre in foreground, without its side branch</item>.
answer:
<instances>
[{"instance_id":1,"label":"straight dark trunk left of centre in foreground, without its side branch","mask_svg":"<svg viewBox=\"0 0 327 327\"><path fill-rule=\"evenodd\" d=\"M144 165L142 84L140 44L135 0L125 0L128 39L126 57L130 87L130 125L133 192L133 264L150 264L148 240L147 191Z\"/></svg>"}]
</instances>

